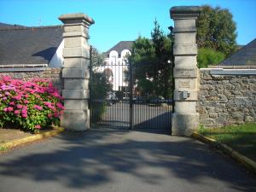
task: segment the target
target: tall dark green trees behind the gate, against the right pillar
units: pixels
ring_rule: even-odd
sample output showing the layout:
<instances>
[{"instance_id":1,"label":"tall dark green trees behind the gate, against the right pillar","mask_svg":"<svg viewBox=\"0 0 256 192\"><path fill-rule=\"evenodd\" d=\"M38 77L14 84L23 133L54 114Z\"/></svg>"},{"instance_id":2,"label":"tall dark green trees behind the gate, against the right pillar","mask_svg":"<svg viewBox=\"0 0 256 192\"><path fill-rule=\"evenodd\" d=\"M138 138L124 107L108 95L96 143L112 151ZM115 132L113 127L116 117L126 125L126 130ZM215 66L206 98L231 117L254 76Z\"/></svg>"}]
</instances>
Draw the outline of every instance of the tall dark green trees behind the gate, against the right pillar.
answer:
<instances>
[{"instance_id":1,"label":"tall dark green trees behind the gate, against the right pillar","mask_svg":"<svg viewBox=\"0 0 256 192\"><path fill-rule=\"evenodd\" d=\"M142 96L172 97L172 35L166 36L155 20L152 40L138 37L132 46L131 63Z\"/></svg>"}]
</instances>

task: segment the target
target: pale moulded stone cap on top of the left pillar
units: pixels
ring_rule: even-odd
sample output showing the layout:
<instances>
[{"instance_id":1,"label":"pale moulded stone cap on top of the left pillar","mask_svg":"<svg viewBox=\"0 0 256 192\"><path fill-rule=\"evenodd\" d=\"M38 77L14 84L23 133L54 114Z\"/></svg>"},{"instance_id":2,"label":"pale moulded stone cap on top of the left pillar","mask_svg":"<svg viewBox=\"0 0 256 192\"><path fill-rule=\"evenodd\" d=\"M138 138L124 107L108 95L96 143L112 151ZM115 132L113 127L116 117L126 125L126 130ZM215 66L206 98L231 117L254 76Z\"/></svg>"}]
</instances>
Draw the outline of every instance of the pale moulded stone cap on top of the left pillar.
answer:
<instances>
[{"instance_id":1,"label":"pale moulded stone cap on top of the left pillar","mask_svg":"<svg viewBox=\"0 0 256 192\"><path fill-rule=\"evenodd\" d=\"M95 23L95 21L92 18L90 18L88 15L85 15L83 13L63 14L59 16L59 20L61 20L64 24L72 22L73 20L84 20L88 22L90 25Z\"/></svg>"}]
</instances>

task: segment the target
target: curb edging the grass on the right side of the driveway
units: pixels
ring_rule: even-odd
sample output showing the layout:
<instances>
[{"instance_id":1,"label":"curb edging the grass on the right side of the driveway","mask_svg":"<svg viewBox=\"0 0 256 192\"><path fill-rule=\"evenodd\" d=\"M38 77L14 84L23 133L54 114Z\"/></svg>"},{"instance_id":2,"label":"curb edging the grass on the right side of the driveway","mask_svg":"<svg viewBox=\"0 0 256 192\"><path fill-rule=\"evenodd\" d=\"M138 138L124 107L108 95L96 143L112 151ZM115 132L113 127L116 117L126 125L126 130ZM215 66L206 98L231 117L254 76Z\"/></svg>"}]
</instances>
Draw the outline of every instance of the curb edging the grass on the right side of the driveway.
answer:
<instances>
[{"instance_id":1,"label":"curb edging the grass on the right side of the driveway","mask_svg":"<svg viewBox=\"0 0 256 192\"><path fill-rule=\"evenodd\" d=\"M247 167L248 171L253 172L256 174L256 162L253 160L250 160L246 156L238 153L233 148L230 148L224 143L218 143L215 139L204 137L199 133L192 133L190 137L193 137L202 143L211 144L213 147L217 148L218 150L221 150L225 154L228 154L232 159L236 160L238 163L240 163L242 166Z\"/></svg>"}]
</instances>

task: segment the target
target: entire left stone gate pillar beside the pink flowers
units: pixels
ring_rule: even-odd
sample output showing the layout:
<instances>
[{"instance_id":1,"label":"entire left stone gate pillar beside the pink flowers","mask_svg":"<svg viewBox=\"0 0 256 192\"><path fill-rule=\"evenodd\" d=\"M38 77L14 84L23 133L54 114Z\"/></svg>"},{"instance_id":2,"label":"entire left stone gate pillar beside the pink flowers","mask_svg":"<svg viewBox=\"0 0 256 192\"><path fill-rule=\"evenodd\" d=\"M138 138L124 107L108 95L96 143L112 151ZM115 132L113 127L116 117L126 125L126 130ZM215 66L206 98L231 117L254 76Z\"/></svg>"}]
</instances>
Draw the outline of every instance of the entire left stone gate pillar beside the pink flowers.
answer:
<instances>
[{"instance_id":1,"label":"entire left stone gate pillar beside the pink flowers","mask_svg":"<svg viewBox=\"0 0 256 192\"><path fill-rule=\"evenodd\" d=\"M59 17L64 23L64 113L61 126L74 131L90 128L89 79L90 45L89 26L94 20L84 14L66 14Z\"/></svg>"}]
</instances>

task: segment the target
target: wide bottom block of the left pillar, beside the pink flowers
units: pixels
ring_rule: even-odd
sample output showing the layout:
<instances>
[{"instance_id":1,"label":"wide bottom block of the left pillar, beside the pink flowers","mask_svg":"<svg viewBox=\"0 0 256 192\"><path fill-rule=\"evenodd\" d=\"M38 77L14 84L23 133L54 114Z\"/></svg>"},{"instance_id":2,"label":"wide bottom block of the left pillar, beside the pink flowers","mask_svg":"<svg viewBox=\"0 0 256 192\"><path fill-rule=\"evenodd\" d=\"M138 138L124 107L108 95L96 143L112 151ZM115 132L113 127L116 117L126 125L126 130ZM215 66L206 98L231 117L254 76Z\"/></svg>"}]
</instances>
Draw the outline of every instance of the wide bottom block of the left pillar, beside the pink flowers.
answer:
<instances>
[{"instance_id":1,"label":"wide bottom block of the left pillar, beside the pink flowers","mask_svg":"<svg viewBox=\"0 0 256 192\"><path fill-rule=\"evenodd\" d=\"M65 110L61 117L61 127L73 131L90 129L90 110Z\"/></svg>"}]
</instances>

